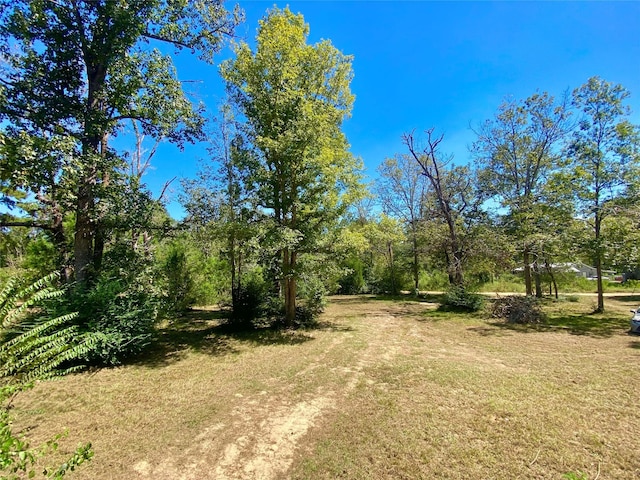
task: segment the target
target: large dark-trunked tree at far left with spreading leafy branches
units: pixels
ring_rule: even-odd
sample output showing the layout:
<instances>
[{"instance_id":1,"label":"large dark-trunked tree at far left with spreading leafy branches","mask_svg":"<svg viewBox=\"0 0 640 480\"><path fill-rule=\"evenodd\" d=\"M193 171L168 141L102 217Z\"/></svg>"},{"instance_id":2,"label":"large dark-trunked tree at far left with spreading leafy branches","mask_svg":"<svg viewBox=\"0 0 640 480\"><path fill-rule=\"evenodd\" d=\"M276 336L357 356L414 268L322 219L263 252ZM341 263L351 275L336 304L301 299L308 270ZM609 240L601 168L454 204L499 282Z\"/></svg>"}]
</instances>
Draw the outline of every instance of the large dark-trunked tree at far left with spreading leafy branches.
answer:
<instances>
[{"instance_id":1,"label":"large dark-trunked tree at far left with spreading leafy branches","mask_svg":"<svg viewBox=\"0 0 640 480\"><path fill-rule=\"evenodd\" d=\"M66 195L75 215L73 260L80 284L102 260L100 202L121 165L109 147L121 122L139 120L145 133L178 144L200 134L202 117L185 95L171 57L148 43L198 51L211 61L239 20L240 12L230 14L219 0L0 1L5 140L72 141L64 151L47 146L41 154L32 148L28 166L52 151L71 166L53 165L50 173L55 182L71 184ZM38 188L35 179L26 184Z\"/></svg>"}]
</instances>

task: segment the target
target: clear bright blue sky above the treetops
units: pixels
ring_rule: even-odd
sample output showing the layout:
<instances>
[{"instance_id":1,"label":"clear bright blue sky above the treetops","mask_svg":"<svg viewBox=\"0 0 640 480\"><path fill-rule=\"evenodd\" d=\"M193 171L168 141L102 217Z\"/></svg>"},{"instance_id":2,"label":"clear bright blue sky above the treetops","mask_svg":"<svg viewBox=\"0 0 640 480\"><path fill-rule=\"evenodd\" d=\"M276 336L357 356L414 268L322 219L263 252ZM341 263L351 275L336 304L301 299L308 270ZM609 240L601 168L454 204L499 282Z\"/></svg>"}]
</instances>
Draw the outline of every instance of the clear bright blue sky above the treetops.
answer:
<instances>
[{"instance_id":1,"label":"clear bright blue sky above the treetops","mask_svg":"<svg viewBox=\"0 0 640 480\"><path fill-rule=\"evenodd\" d=\"M250 44L258 20L277 4L302 13L309 42L329 39L353 55L356 96L344 131L373 178L386 157L403 153L401 135L427 128L444 133L443 150L471 161L470 126L491 118L502 99L538 91L561 95L594 75L630 92L640 123L640 2L243 1L237 34ZM229 6L232 4L229 3ZM229 49L219 64L232 55ZM217 65L187 53L178 76L212 111L223 98ZM163 146L145 178L153 191L177 175L193 177L204 145L180 152ZM183 215L173 184L169 211Z\"/></svg>"}]
</instances>

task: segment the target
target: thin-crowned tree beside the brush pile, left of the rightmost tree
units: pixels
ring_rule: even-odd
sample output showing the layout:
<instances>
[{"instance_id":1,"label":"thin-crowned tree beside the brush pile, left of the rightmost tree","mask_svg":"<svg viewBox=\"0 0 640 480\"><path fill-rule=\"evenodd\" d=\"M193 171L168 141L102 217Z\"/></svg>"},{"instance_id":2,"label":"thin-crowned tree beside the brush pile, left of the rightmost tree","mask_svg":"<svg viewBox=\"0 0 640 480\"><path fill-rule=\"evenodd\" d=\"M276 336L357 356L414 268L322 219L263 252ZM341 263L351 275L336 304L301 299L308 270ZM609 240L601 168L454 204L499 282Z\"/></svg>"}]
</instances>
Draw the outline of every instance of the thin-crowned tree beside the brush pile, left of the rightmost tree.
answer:
<instances>
[{"instance_id":1,"label":"thin-crowned tree beside the brush pile, left of the rightmost tree","mask_svg":"<svg viewBox=\"0 0 640 480\"><path fill-rule=\"evenodd\" d=\"M475 132L472 151L483 167L482 188L508 209L510 230L522 245L527 295L533 294L532 264L538 271L532 260L538 210L546 180L560 166L567 119L566 100L556 102L546 92L536 93L519 102L503 102L495 118Z\"/></svg>"}]
</instances>

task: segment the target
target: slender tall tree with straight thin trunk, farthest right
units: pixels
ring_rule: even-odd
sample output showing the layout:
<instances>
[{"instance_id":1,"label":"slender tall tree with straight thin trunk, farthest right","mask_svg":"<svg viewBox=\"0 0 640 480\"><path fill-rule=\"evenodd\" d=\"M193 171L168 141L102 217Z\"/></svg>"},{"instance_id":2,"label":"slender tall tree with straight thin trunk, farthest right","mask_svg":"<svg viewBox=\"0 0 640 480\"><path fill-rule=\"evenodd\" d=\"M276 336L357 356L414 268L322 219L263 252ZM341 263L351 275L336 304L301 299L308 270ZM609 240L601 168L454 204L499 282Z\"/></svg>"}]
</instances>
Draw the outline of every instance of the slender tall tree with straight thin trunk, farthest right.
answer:
<instances>
[{"instance_id":1,"label":"slender tall tree with straight thin trunk, farthest right","mask_svg":"<svg viewBox=\"0 0 640 480\"><path fill-rule=\"evenodd\" d=\"M604 311L602 262L603 222L615 211L625 187L637 183L640 163L638 127L627 117L624 104L629 92L622 86L590 78L573 91L573 105L582 115L573 132L568 154L572 162L572 185L581 214L592 228L589 254L597 272L598 308Z\"/></svg>"}]
</instances>

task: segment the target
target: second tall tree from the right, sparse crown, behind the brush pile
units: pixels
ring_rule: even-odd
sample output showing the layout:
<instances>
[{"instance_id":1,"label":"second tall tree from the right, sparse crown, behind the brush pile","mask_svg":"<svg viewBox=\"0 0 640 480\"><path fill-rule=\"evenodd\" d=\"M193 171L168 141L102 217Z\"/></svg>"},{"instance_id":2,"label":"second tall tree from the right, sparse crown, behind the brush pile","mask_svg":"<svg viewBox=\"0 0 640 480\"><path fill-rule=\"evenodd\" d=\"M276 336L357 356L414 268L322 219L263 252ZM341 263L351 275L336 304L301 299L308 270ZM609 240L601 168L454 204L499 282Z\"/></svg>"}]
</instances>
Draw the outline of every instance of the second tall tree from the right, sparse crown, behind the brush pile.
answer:
<instances>
[{"instance_id":1,"label":"second tall tree from the right, sparse crown, behind the brush pile","mask_svg":"<svg viewBox=\"0 0 640 480\"><path fill-rule=\"evenodd\" d=\"M571 218L566 183L548 181L563 167L560 147L569 115L567 99L557 102L546 92L506 100L494 119L480 125L472 147L482 166L480 188L507 209L501 223L520 246L527 294L533 293L533 257L543 262L560 249L554 242Z\"/></svg>"}]
</instances>

